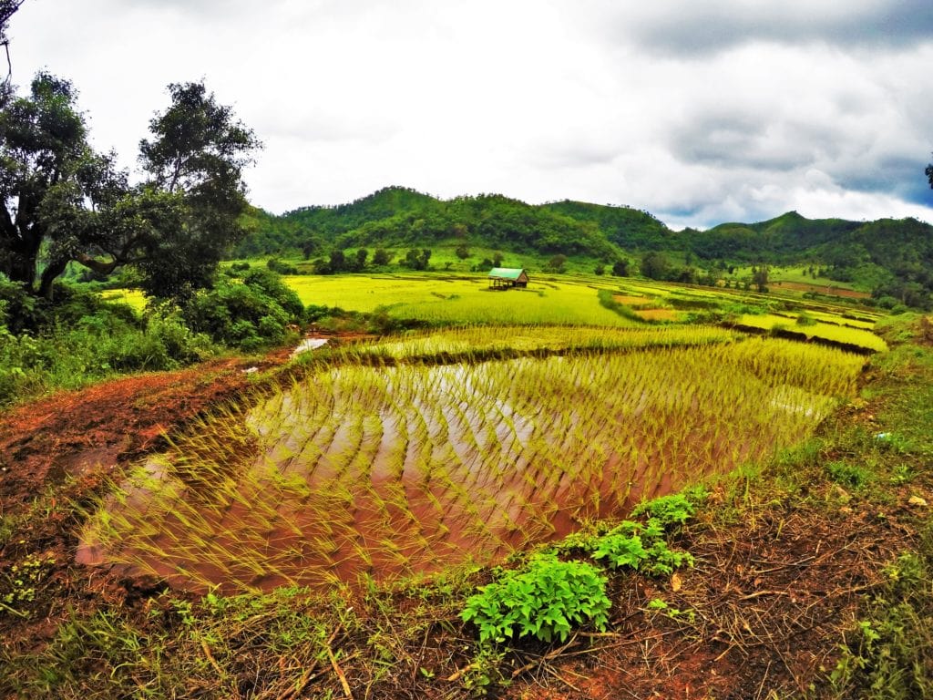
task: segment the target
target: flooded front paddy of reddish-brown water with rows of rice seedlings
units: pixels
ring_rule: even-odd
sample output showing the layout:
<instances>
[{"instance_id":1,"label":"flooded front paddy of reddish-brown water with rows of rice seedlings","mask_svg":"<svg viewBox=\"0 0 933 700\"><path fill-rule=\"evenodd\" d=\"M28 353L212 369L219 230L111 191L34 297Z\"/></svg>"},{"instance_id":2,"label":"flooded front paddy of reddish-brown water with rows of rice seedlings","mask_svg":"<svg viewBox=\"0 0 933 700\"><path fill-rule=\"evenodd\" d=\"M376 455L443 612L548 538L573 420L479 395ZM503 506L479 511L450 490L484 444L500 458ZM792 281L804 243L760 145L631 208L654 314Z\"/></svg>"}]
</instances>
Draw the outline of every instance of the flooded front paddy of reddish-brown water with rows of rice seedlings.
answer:
<instances>
[{"instance_id":1,"label":"flooded front paddy of reddish-brown water with rows of rice seedlings","mask_svg":"<svg viewBox=\"0 0 933 700\"><path fill-rule=\"evenodd\" d=\"M238 473L146 463L79 560L225 592L487 563L769 455L828 409L740 374L689 350L327 371L246 416Z\"/></svg>"}]
</instances>

